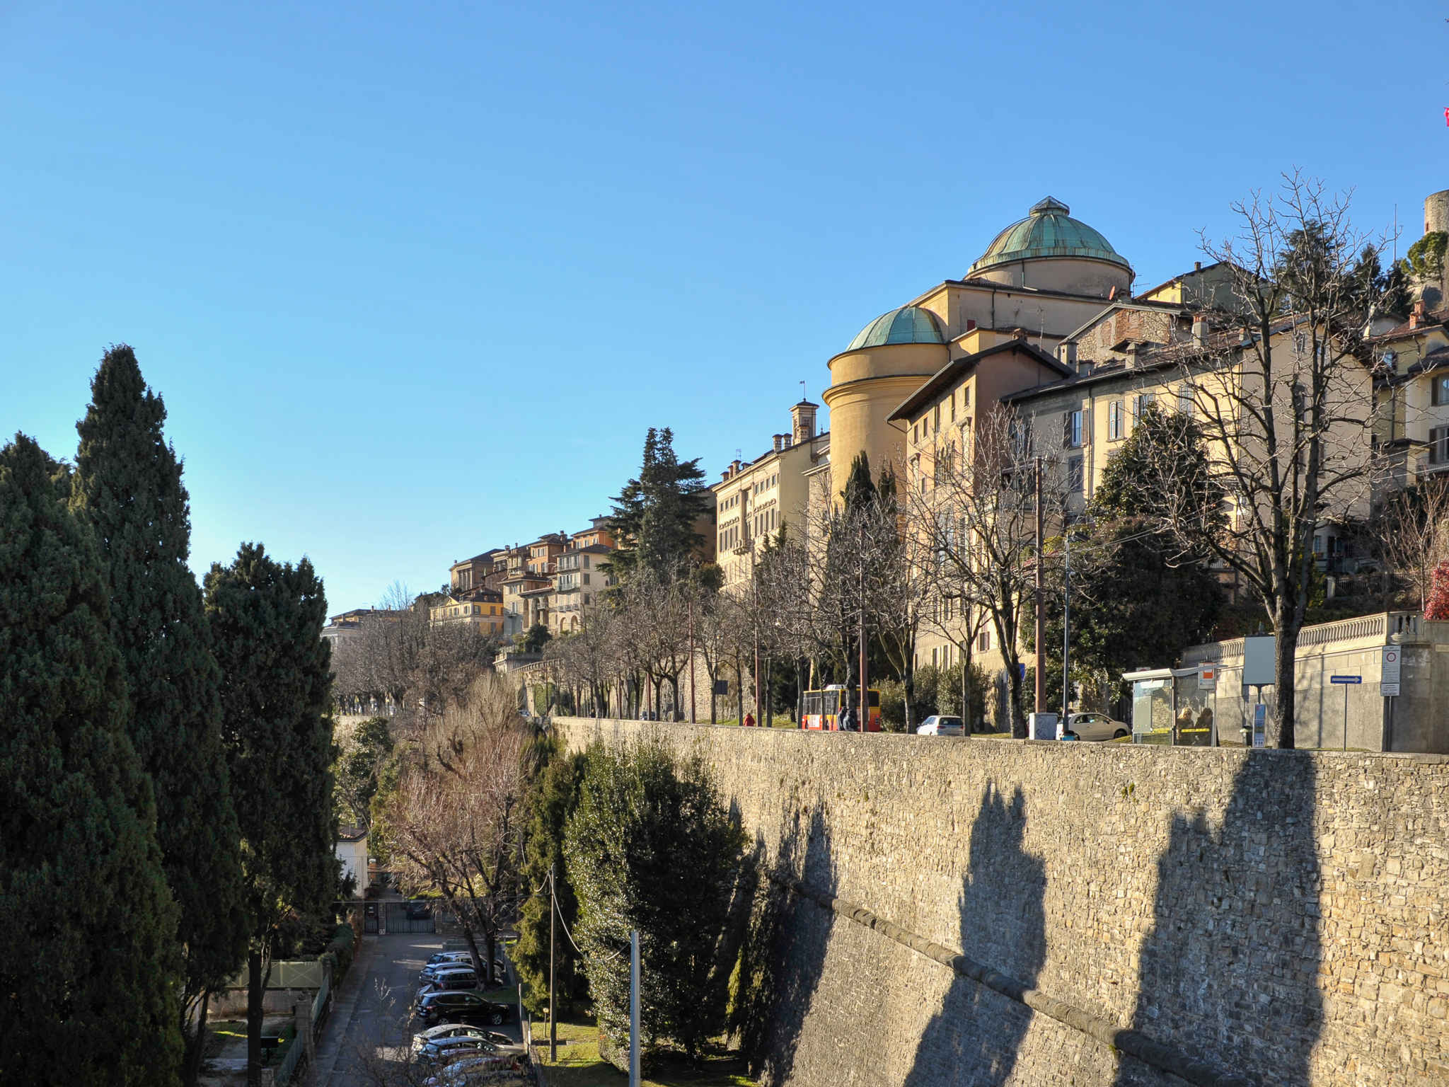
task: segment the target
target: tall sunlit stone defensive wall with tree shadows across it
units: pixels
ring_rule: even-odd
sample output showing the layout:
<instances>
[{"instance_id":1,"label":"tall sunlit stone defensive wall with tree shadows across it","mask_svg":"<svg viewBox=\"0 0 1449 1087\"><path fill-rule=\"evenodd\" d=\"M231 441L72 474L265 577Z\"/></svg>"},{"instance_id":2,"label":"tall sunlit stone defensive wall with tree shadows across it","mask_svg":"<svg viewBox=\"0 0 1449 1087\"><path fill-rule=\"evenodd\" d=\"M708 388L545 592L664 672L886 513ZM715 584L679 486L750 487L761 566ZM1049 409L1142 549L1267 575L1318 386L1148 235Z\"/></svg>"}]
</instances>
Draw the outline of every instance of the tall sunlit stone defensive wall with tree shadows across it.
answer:
<instances>
[{"instance_id":1,"label":"tall sunlit stone defensive wall with tree shadows across it","mask_svg":"<svg viewBox=\"0 0 1449 1087\"><path fill-rule=\"evenodd\" d=\"M1449 1084L1449 758L658 729L755 844L767 1084Z\"/></svg>"}]
</instances>

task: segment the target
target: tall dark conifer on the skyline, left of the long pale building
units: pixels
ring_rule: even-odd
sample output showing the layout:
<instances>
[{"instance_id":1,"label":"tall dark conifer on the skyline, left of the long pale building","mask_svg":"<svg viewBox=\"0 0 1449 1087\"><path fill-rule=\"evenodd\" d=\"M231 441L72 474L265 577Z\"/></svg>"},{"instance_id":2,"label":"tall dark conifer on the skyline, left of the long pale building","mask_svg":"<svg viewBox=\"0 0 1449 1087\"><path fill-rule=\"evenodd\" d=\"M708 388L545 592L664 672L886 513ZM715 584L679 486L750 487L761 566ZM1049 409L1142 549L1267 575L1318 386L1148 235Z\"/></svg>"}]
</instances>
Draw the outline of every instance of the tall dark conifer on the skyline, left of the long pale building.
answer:
<instances>
[{"instance_id":1,"label":"tall dark conifer on the skyline, left of the long pale building","mask_svg":"<svg viewBox=\"0 0 1449 1087\"><path fill-rule=\"evenodd\" d=\"M648 570L668 583L696 564L704 544L696 525L710 510L709 488L700 459L675 455L669 428L649 428L639 475L611 501L609 526L619 549L601 564L604 572L626 581Z\"/></svg>"}]
</instances>

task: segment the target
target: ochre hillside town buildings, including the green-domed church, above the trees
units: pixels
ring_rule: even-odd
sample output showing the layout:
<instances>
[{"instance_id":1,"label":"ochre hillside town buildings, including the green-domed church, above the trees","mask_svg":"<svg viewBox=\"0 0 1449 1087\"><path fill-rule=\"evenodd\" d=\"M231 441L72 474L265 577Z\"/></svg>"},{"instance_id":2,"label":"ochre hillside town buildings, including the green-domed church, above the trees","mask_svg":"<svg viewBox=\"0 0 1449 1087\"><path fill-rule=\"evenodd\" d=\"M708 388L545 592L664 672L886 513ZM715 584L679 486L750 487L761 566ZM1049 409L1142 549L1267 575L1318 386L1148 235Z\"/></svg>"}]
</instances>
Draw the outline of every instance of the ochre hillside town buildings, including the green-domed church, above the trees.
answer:
<instances>
[{"instance_id":1,"label":"ochre hillside town buildings, including the green-domed church, above the trees","mask_svg":"<svg viewBox=\"0 0 1449 1087\"><path fill-rule=\"evenodd\" d=\"M1426 199L1424 235L1449 235L1449 190ZM968 455L972 432L1000 412L1020 420L1026 441L1056 472L1059 519L1081 516L1111 454L1149 406L1201 417L1213 381L1219 391L1240 391L1245 371L1232 358L1252 341L1239 319L1235 272L1223 262L1195 262L1133 293L1127 257L1064 201L1037 200L961 278L869 320L829 358L820 397L829 426L820 425L819 406L801 399L768 449L722 470L710 487L710 519L698 526L706 558L719 564L727 591L742 591L767 539L781 529L809 533L811 519L839 503L858 457L868 458L872 477L888 465L903 493L927 494L939 458ZM1345 520L1368 516L1385 488L1449 470L1446 262L1430 265L1413 286L1417 303L1407 319L1375 322L1372 358L1336 378L1345 383L1337 400L1362 409L1345 422L1340 454L1372 458L1377 468L1319 525L1313 548L1326 571L1350 570L1355 561L1340 532ZM1304 341L1288 316L1269 335L1288 352ZM740 443L764 439L742 435ZM587 529L455 562L436 620L477 620L501 638L538 625L555 636L575 633L601 604L609 586L601 565L614 546L609 519L596 517ZM346 636L352 622L336 636ZM955 667L969 658L1000 674L994 638L980 615L940 603L922 623L914 661Z\"/></svg>"}]
</instances>

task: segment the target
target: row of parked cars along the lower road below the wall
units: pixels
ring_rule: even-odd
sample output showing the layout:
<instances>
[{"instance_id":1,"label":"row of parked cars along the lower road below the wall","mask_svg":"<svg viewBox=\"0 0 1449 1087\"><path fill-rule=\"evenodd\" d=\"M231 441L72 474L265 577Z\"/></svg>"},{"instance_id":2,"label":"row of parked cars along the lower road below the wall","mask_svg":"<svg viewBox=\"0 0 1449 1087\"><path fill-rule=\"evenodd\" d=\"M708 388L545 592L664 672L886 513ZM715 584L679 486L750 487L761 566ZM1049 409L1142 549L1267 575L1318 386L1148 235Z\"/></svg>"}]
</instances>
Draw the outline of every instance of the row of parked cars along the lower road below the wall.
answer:
<instances>
[{"instance_id":1,"label":"row of parked cars along the lower road below the wall","mask_svg":"<svg viewBox=\"0 0 1449 1087\"><path fill-rule=\"evenodd\" d=\"M501 968L501 964L494 964ZM529 1055L506 1033L490 1030L513 1017L510 1004L480 991L467 951L439 951L417 978L413 1059L430 1075L426 1087L514 1087L529 1083Z\"/></svg>"}]
</instances>

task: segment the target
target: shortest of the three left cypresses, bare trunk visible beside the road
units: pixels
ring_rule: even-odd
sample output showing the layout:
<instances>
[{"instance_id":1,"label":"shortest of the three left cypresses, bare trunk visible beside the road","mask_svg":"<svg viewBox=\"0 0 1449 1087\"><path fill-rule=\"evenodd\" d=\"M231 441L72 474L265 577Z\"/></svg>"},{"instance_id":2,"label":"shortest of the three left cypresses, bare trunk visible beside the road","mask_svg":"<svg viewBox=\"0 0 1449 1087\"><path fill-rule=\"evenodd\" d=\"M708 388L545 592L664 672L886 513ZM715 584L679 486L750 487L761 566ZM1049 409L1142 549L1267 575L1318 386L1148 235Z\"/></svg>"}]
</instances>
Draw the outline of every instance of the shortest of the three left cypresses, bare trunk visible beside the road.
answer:
<instances>
[{"instance_id":1,"label":"shortest of the three left cypresses, bare trunk visible beside the road","mask_svg":"<svg viewBox=\"0 0 1449 1087\"><path fill-rule=\"evenodd\" d=\"M243 544L206 575L222 670L222 739L242 833L248 1075L261 1083L262 996L287 915L330 910L338 893L332 797L327 601L312 562Z\"/></svg>"}]
</instances>

